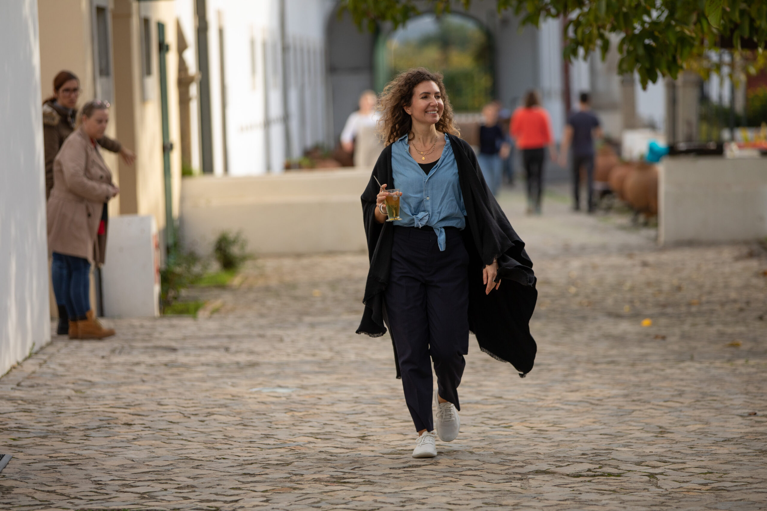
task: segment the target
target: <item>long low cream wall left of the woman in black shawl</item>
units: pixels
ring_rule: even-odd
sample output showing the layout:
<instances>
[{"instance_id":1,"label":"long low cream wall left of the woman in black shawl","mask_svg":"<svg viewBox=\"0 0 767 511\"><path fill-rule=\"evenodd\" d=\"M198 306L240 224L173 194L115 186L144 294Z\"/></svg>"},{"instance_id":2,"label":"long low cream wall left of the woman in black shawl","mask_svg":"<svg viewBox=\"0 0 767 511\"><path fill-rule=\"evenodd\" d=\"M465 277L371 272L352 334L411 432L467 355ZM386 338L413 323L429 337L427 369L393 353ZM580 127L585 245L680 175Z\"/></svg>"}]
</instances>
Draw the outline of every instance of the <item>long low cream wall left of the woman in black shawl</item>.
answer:
<instances>
[{"instance_id":1,"label":"long low cream wall left of the woman in black shawl","mask_svg":"<svg viewBox=\"0 0 767 511\"><path fill-rule=\"evenodd\" d=\"M363 251L360 195L369 179L370 169L184 178L181 239L202 253L222 231L242 231L256 254Z\"/></svg>"}]
</instances>

